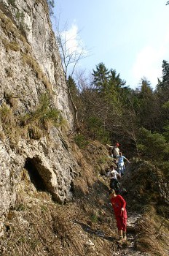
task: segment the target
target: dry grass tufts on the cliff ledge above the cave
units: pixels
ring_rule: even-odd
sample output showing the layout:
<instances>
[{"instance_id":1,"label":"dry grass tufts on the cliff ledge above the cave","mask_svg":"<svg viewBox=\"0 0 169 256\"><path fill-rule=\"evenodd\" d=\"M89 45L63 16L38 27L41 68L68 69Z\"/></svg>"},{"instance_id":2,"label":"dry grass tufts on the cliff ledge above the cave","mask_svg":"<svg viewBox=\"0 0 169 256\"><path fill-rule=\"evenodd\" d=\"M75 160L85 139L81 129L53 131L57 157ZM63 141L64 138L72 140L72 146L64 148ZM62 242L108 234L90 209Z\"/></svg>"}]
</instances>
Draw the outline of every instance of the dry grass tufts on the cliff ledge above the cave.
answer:
<instances>
[{"instance_id":1,"label":"dry grass tufts on the cliff ledge above the cave","mask_svg":"<svg viewBox=\"0 0 169 256\"><path fill-rule=\"evenodd\" d=\"M13 149L17 148L19 138L26 140L39 140L43 136L48 138L51 127L60 127L65 124L60 111L50 105L48 94L41 95L39 105L37 105L34 113L24 116L15 114L15 110L17 110L16 96L5 94L5 100L8 105L4 103L0 107L0 120L4 134L9 138L10 146Z\"/></svg>"}]
</instances>

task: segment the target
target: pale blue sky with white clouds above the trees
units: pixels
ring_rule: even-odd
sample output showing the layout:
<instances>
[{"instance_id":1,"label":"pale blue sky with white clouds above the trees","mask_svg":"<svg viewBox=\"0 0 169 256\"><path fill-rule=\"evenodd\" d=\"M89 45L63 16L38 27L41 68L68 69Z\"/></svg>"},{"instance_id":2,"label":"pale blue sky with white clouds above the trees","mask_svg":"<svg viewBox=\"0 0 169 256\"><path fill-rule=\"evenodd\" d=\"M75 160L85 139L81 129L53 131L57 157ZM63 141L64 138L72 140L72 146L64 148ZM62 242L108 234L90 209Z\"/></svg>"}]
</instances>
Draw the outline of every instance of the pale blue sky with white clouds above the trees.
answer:
<instances>
[{"instance_id":1,"label":"pale blue sky with white clouds above the trees","mask_svg":"<svg viewBox=\"0 0 169 256\"><path fill-rule=\"evenodd\" d=\"M55 0L55 17L89 49L80 63L91 71L103 62L135 89L146 77L153 88L169 61L167 0ZM80 31L77 34L77 31Z\"/></svg>"}]
</instances>

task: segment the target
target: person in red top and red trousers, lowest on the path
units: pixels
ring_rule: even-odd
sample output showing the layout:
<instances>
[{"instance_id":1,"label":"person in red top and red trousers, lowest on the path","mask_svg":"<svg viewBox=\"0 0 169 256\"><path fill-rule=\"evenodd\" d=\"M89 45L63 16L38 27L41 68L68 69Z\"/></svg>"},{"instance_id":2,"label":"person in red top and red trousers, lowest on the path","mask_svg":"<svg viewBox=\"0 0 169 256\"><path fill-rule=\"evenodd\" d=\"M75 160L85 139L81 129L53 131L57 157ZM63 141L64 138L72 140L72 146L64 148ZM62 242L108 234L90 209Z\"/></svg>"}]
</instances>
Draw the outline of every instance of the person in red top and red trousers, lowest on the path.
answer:
<instances>
[{"instance_id":1,"label":"person in red top and red trousers, lowest on the path","mask_svg":"<svg viewBox=\"0 0 169 256\"><path fill-rule=\"evenodd\" d=\"M126 240L126 227L127 227L127 211L126 202L121 195L117 195L114 189L109 190L110 200L114 209L114 215L117 220L117 228L119 231L119 241Z\"/></svg>"}]
</instances>

